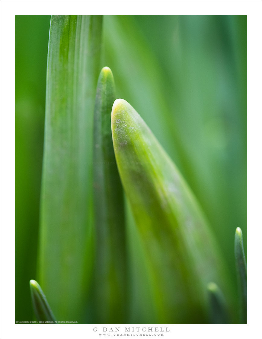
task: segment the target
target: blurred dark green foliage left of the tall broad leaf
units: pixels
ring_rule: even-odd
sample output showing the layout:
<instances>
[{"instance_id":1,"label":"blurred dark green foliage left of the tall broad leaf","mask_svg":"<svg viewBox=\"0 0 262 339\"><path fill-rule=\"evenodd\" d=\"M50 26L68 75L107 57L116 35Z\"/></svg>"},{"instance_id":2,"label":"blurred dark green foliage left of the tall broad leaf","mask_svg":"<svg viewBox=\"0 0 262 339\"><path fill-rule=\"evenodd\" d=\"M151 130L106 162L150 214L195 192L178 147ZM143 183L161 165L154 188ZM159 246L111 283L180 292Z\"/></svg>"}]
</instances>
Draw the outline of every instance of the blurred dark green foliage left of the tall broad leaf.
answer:
<instances>
[{"instance_id":1,"label":"blurred dark green foliage left of the tall broad leaf","mask_svg":"<svg viewBox=\"0 0 262 339\"><path fill-rule=\"evenodd\" d=\"M50 16L15 17L15 317L33 316Z\"/></svg>"}]
</instances>

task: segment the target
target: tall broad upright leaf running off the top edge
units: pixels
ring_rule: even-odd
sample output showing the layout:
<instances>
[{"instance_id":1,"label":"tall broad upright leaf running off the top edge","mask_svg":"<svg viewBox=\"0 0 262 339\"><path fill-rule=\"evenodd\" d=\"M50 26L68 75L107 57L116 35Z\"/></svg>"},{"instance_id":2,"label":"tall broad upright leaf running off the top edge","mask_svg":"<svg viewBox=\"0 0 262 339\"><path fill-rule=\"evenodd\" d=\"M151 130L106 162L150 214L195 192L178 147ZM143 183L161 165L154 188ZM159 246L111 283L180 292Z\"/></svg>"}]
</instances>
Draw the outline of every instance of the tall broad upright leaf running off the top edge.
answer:
<instances>
[{"instance_id":1,"label":"tall broad upright leaf running off the top edge","mask_svg":"<svg viewBox=\"0 0 262 339\"><path fill-rule=\"evenodd\" d=\"M39 282L60 319L86 322L92 268L92 126L101 16L52 16Z\"/></svg>"}]
</instances>

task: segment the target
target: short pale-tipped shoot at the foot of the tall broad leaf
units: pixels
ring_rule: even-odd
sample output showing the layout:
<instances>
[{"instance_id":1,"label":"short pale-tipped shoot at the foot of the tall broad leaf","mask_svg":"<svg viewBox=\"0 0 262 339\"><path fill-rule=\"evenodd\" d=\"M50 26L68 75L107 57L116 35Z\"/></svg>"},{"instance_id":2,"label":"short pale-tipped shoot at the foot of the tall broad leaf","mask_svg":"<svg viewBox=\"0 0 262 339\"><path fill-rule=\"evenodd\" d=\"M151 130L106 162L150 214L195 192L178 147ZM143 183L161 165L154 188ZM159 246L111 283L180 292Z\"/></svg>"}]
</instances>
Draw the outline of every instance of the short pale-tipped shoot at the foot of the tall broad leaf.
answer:
<instances>
[{"instance_id":1,"label":"short pale-tipped shoot at the foot of the tall broad leaf","mask_svg":"<svg viewBox=\"0 0 262 339\"><path fill-rule=\"evenodd\" d=\"M40 321L56 321L42 288L35 280L30 280L30 290L35 316Z\"/></svg>"}]
</instances>

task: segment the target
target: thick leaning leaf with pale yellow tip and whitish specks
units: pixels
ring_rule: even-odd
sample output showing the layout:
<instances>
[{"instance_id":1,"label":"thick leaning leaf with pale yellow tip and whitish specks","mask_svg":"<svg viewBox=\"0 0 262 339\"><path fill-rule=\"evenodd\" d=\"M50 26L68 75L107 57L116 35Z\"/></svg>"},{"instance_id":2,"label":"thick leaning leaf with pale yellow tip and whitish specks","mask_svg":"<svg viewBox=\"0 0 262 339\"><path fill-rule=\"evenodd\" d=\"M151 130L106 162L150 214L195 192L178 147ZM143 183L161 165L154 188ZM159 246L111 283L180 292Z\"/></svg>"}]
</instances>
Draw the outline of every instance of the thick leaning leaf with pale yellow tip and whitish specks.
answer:
<instances>
[{"instance_id":1,"label":"thick leaning leaf with pale yellow tip and whitish specks","mask_svg":"<svg viewBox=\"0 0 262 339\"><path fill-rule=\"evenodd\" d=\"M162 323L208 321L206 286L230 299L228 272L201 209L144 120L125 100L111 114L117 166L147 256Z\"/></svg>"}]
</instances>

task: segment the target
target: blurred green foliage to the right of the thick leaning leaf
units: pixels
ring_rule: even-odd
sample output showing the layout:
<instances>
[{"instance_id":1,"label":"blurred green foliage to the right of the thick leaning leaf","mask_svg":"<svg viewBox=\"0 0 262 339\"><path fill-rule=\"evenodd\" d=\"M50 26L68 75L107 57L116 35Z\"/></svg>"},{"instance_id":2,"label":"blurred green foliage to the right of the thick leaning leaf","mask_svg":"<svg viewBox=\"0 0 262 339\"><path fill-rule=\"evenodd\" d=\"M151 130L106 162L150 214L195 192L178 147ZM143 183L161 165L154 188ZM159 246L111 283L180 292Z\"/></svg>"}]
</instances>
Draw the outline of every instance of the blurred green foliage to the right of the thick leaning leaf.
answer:
<instances>
[{"instance_id":1,"label":"blurred green foliage to the right of the thick leaning leaf","mask_svg":"<svg viewBox=\"0 0 262 339\"><path fill-rule=\"evenodd\" d=\"M177 164L217 235L235 284L236 225L246 237L246 22L246 16L104 20L104 58L116 96L136 107ZM138 291L141 283L133 283ZM134 292L138 302L139 294Z\"/></svg>"}]
</instances>

